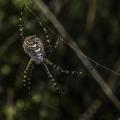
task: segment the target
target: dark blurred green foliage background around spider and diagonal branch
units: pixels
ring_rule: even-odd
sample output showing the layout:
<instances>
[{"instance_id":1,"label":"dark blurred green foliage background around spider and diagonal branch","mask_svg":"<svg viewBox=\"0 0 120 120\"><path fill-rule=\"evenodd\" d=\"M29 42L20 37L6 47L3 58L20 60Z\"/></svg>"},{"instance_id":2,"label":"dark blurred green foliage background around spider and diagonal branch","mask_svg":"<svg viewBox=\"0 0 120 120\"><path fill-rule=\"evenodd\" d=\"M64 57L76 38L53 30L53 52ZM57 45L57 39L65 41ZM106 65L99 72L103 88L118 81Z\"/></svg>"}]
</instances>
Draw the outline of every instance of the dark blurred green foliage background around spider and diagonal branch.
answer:
<instances>
[{"instance_id":1,"label":"dark blurred green foliage background around spider and diagonal branch","mask_svg":"<svg viewBox=\"0 0 120 120\"><path fill-rule=\"evenodd\" d=\"M120 71L119 0L44 2L87 56ZM64 69L80 70L83 75L64 75L50 68L61 89L67 91L60 96L50 88L44 68L36 65L32 74L32 98L27 95L22 80L29 56L23 50L18 27L21 8L27 3L25 0L0 0L0 120L119 120L120 111L72 49L62 42L49 59ZM29 2L29 7L41 22L58 34L34 1ZM23 21L25 36L37 34L45 40L41 26L27 10ZM49 35L54 43L54 34L49 31ZM120 77L99 66L96 69L119 99Z\"/></svg>"}]
</instances>

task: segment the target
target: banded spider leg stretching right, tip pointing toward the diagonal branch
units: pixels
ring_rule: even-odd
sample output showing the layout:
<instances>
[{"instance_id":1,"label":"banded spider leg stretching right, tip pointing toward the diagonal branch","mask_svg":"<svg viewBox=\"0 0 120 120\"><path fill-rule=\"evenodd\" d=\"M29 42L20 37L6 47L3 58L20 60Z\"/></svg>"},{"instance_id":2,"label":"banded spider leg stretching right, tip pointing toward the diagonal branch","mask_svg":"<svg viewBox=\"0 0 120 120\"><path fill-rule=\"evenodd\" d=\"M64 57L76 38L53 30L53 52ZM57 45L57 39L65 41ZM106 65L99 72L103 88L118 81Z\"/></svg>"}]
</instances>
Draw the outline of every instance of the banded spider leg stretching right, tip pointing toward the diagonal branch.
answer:
<instances>
[{"instance_id":1,"label":"banded spider leg stretching right, tip pointing toward the diagonal branch","mask_svg":"<svg viewBox=\"0 0 120 120\"><path fill-rule=\"evenodd\" d=\"M64 70L62 69L60 66L54 64L53 62L51 62L50 60L48 59L44 59L44 62L48 65L50 65L53 69L61 72L61 73L65 73L65 74L72 74L72 75L82 75L82 72L80 71L70 71L70 70Z\"/></svg>"}]
</instances>

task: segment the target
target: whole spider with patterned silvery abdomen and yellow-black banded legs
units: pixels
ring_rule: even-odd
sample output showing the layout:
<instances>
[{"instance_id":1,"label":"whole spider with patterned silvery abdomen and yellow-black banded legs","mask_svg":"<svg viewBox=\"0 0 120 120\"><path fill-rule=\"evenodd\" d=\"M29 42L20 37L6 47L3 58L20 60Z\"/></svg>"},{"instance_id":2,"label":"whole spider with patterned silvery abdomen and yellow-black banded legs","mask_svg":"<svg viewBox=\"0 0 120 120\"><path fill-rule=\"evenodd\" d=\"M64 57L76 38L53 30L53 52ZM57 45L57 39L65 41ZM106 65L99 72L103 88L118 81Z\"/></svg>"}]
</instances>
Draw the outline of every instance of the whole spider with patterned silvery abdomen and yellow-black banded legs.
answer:
<instances>
[{"instance_id":1,"label":"whole spider with patterned silvery abdomen and yellow-black banded legs","mask_svg":"<svg viewBox=\"0 0 120 120\"><path fill-rule=\"evenodd\" d=\"M31 87L30 87L31 86L31 74L32 74L33 68L35 67L35 64L37 64L37 65L41 64L44 66L46 74L50 80L51 87L53 87L58 94L63 94L64 91L61 90L60 86L55 81L53 75L49 71L48 65L51 66L56 71L59 71L61 73L65 73L65 74L81 75L82 72L64 70L60 66L54 64L47 58L48 54L53 54L53 51L55 51L57 49L60 38L58 37L58 39L55 42L55 45L51 46L48 31L47 31L46 27L43 26L43 24L40 22L40 20L38 22L42 26L42 30L45 34L47 46L44 46L45 41L43 41L37 35L29 35L27 37L24 36L24 33L23 33L23 31L24 31L23 30L23 28L24 28L23 27L24 8L25 8L25 6L23 7L23 9L20 12L19 30L20 30L21 39L23 41L24 51L30 57L27 67L24 70L24 79L23 79L24 86L25 87L27 86L28 95L31 95ZM26 8L29 12L32 12L31 9L29 9L28 7L26 7Z\"/></svg>"}]
</instances>

